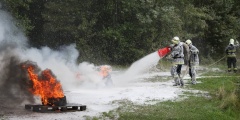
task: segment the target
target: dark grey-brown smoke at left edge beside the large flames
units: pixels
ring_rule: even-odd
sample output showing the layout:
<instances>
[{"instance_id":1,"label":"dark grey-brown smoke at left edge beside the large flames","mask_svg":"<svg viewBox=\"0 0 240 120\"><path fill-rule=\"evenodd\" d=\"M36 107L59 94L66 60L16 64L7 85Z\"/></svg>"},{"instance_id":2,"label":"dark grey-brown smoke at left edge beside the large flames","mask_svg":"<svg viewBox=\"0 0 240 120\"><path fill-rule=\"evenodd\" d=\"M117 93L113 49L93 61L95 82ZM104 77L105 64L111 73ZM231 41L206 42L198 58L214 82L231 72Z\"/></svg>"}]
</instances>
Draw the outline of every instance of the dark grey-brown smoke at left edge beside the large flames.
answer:
<instances>
[{"instance_id":1,"label":"dark grey-brown smoke at left edge beside the large flames","mask_svg":"<svg viewBox=\"0 0 240 120\"><path fill-rule=\"evenodd\" d=\"M31 82L12 45L0 46L0 109L7 111L24 102L34 103L30 93Z\"/></svg>"}]
</instances>

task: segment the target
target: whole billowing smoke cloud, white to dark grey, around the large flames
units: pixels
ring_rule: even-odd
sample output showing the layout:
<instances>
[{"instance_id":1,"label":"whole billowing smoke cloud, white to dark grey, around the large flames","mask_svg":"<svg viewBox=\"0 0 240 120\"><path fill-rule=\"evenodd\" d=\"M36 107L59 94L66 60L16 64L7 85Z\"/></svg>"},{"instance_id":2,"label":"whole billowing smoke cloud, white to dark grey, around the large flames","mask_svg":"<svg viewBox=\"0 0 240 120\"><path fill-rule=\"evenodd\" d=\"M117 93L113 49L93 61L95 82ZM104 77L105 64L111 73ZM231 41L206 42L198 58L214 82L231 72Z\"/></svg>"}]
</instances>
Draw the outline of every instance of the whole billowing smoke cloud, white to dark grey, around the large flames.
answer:
<instances>
[{"instance_id":1,"label":"whole billowing smoke cloud, white to dark grey, around the large flames","mask_svg":"<svg viewBox=\"0 0 240 120\"><path fill-rule=\"evenodd\" d=\"M31 47L15 23L0 5L0 109L35 102L29 91L29 77L21 67L26 61L34 62L40 70L50 69L63 90L78 88L84 81L101 80L93 64L77 64L79 52L75 44L61 46L58 51L47 46Z\"/></svg>"}]
</instances>

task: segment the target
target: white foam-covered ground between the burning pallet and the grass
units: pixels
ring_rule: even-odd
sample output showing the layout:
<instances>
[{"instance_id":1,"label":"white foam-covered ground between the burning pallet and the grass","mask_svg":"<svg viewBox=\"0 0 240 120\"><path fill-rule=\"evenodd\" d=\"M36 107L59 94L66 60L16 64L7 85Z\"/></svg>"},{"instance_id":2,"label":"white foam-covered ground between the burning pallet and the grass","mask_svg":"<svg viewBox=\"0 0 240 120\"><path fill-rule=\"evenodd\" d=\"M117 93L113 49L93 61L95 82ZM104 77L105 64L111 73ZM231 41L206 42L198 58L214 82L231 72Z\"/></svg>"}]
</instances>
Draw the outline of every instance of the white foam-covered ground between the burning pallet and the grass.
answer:
<instances>
[{"instance_id":1,"label":"white foam-covered ground between the burning pallet and the grass","mask_svg":"<svg viewBox=\"0 0 240 120\"><path fill-rule=\"evenodd\" d=\"M100 88L79 88L66 90L68 103L83 104L87 106L85 111L38 113L25 110L24 105L7 108L1 105L4 111L0 112L0 118L11 120L66 120L85 119L84 116L98 116L101 112L116 109L119 100L129 100L135 104L153 104L154 101L177 99L182 94L181 87L172 86L173 81L168 80L169 72L151 72L139 76L137 81L125 86L111 86ZM113 82L114 77L113 77ZM7 108L7 109L6 109Z\"/></svg>"}]
</instances>

